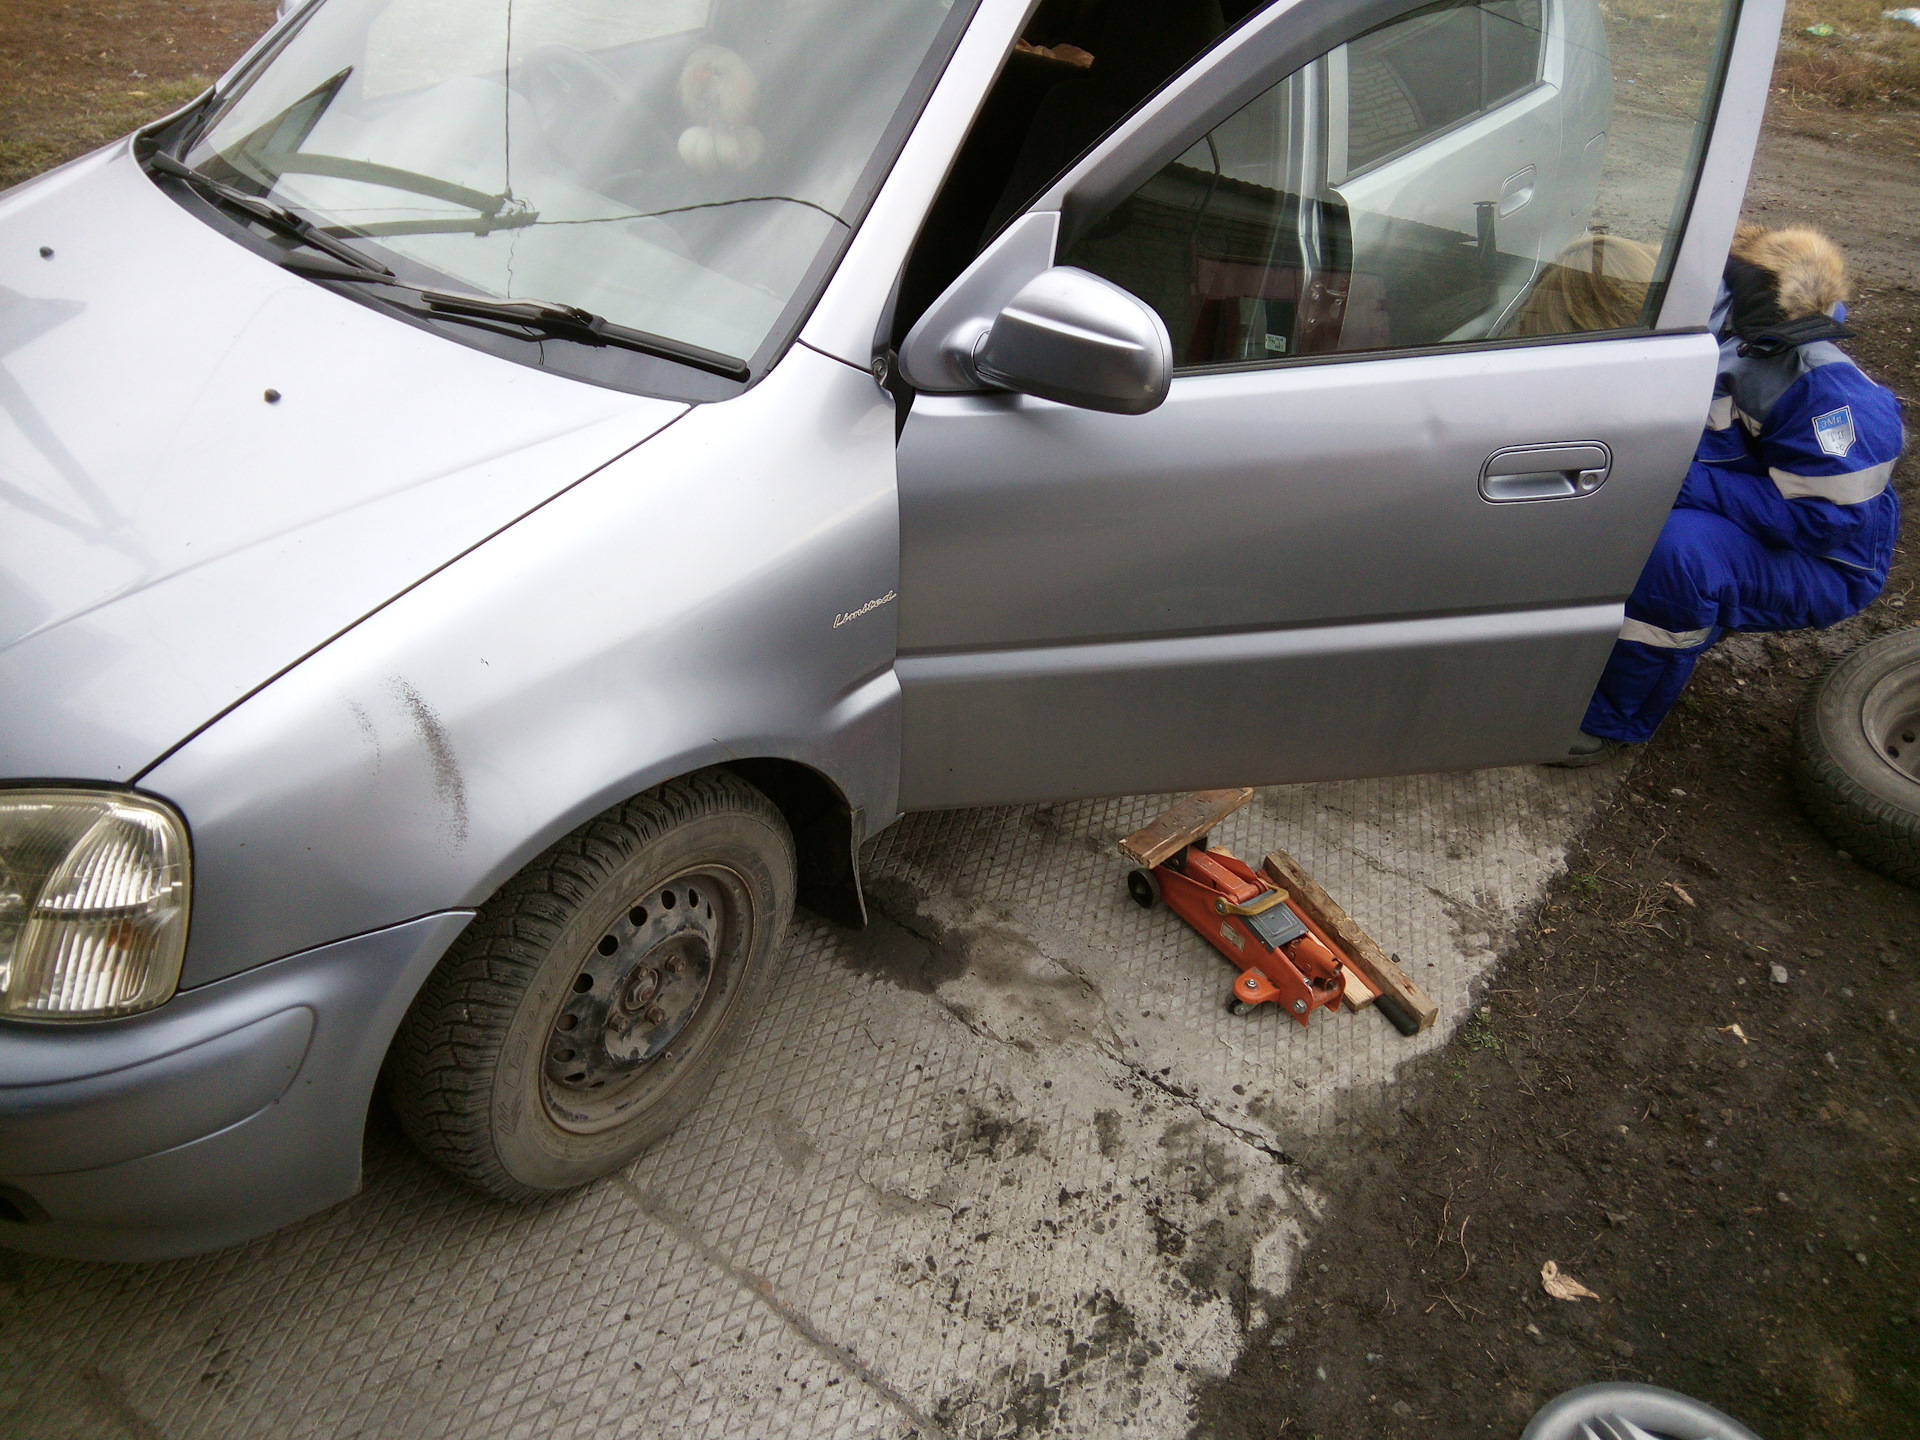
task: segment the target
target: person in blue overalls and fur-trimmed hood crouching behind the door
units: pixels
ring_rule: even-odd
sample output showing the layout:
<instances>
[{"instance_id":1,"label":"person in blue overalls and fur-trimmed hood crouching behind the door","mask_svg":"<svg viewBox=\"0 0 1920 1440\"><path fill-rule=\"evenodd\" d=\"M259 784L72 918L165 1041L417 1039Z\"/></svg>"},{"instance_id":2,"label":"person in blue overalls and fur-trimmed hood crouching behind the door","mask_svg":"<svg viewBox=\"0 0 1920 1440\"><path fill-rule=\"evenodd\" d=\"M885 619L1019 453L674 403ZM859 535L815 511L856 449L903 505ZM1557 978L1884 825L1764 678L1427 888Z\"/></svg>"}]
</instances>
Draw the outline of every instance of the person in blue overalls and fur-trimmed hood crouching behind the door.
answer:
<instances>
[{"instance_id":1,"label":"person in blue overalls and fur-trimmed hood crouching behind the door","mask_svg":"<svg viewBox=\"0 0 1920 1440\"><path fill-rule=\"evenodd\" d=\"M1730 630L1812 630L1887 582L1901 407L1836 340L1847 263L1809 228L1741 225L1713 309L1720 376L1680 499L1559 764L1645 741Z\"/></svg>"}]
</instances>

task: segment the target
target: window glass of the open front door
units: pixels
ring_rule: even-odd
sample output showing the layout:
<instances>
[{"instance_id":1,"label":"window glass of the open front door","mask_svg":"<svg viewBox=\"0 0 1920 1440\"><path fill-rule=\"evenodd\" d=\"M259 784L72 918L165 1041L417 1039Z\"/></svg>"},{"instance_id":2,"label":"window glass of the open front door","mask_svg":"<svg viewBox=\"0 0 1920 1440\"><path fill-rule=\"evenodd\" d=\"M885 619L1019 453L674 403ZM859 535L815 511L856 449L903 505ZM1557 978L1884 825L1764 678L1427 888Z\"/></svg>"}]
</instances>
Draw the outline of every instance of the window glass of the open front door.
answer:
<instances>
[{"instance_id":1,"label":"window glass of the open front door","mask_svg":"<svg viewBox=\"0 0 1920 1440\"><path fill-rule=\"evenodd\" d=\"M1651 323L1726 0L1448 0L1321 56L1062 253L1187 369Z\"/></svg>"}]
</instances>

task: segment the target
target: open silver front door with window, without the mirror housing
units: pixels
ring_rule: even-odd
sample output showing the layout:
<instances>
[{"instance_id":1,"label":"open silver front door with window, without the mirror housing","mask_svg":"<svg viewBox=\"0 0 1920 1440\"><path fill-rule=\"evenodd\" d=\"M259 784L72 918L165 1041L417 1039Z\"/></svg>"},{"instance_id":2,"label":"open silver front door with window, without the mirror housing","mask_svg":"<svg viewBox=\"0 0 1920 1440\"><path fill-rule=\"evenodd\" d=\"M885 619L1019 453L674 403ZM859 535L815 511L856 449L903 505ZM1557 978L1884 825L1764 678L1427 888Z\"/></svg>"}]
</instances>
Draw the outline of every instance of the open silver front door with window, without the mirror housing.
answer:
<instances>
[{"instance_id":1,"label":"open silver front door with window, without the mirror housing","mask_svg":"<svg viewBox=\"0 0 1920 1440\"><path fill-rule=\"evenodd\" d=\"M902 344L902 808L1563 753L1705 420L1778 23L1298 0L1110 132ZM943 361L1054 263L1162 317L1164 405Z\"/></svg>"}]
</instances>

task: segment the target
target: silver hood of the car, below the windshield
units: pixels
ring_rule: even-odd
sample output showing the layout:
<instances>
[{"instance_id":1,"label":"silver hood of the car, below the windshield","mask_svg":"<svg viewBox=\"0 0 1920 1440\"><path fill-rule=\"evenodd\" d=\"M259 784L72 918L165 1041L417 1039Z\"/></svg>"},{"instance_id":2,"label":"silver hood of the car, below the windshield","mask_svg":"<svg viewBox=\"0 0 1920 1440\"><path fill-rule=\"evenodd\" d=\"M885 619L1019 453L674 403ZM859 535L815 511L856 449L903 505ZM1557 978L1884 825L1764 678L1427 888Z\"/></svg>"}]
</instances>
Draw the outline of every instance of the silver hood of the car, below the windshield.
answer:
<instances>
[{"instance_id":1,"label":"silver hood of the car, below the windshield","mask_svg":"<svg viewBox=\"0 0 1920 1440\"><path fill-rule=\"evenodd\" d=\"M0 776L132 780L685 409L301 280L125 142L0 196Z\"/></svg>"}]
</instances>

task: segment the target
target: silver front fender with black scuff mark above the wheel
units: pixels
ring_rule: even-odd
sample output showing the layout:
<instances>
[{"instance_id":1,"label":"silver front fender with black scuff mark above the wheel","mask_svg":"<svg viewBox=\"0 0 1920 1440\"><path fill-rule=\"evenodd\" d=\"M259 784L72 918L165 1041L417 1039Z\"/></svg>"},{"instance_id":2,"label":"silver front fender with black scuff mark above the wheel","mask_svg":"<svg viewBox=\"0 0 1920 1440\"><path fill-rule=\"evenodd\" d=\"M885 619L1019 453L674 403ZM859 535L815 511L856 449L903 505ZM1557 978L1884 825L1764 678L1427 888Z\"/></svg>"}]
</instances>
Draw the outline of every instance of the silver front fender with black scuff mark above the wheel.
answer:
<instances>
[{"instance_id":1,"label":"silver front fender with black scuff mark above the wheel","mask_svg":"<svg viewBox=\"0 0 1920 1440\"><path fill-rule=\"evenodd\" d=\"M897 589L893 403L795 348L140 778L194 833L182 985L474 906L705 764L795 760L885 824Z\"/></svg>"}]
</instances>

